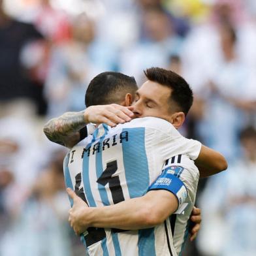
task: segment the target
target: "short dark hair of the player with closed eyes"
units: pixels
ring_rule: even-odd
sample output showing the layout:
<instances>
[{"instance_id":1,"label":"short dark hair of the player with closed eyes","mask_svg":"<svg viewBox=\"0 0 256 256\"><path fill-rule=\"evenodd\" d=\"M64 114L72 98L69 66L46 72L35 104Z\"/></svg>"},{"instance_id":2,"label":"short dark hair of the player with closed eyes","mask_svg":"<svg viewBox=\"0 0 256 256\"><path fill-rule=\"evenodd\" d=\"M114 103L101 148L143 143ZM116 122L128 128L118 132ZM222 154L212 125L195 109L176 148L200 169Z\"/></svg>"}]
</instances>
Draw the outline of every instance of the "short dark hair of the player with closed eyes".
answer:
<instances>
[{"instance_id":1,"label":"short dark hair of the player with closed eyes","mask_svg":"<svg viewBox=\"0 0 256 256\"><path fill-rule=\"evenodd\" d=\"M173 103L176 103L178 110L184 112L185 115L189 112L189 109L193 104L193 91L182 76L159 67L146 69L144 74L148 80L172 89L169 101L170 106L172 106Z\"/></svg>"}]
</instances>

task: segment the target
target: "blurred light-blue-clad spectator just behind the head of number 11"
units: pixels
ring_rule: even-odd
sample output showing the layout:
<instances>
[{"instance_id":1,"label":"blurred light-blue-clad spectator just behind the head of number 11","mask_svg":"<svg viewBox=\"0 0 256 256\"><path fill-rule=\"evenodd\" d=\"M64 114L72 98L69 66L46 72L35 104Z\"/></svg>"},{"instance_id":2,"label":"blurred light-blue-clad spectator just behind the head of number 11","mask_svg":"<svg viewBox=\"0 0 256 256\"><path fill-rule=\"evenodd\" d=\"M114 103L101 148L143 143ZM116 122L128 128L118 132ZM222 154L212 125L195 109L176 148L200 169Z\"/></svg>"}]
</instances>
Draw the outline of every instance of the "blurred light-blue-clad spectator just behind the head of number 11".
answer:
<instances>
[{"instance_id":1,"label":"blurred light-blue-clad spectator just behind the head of number 11","mask_svg":"<svg viewBox=\"0 0 256 256\"><path fill-rule=\"evenodd\" d=\"M84 14L73 23L72 38L53 48L46 96L50 116L84 109L86 84L99 72L113 70L115 56L107 45L95 40L95 24Z\"/></svg>"}]
</instances>

